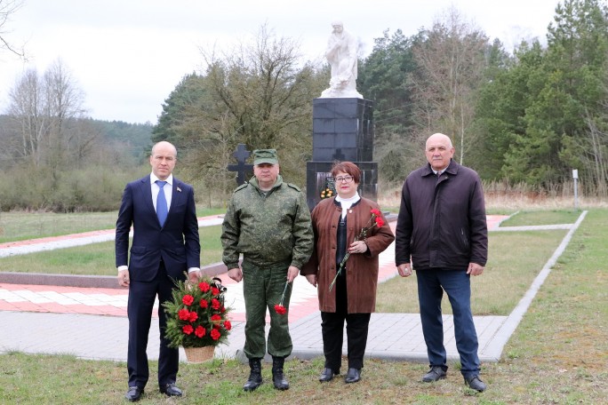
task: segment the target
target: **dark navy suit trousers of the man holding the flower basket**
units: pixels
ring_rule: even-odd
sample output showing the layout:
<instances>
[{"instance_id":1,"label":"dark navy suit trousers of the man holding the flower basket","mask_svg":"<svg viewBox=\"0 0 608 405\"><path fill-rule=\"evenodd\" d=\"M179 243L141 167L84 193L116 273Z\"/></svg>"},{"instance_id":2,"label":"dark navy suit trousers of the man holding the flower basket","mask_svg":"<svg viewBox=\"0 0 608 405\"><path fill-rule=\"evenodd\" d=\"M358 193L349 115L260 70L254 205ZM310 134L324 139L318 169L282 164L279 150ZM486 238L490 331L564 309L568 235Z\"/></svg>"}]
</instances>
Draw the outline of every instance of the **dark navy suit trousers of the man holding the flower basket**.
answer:
<instances>
[{"instance_id":1,"label":"dark navy suit trousers of the man holding the flower basket","mask_svg":"<svg viewBox=\"0 0 608 405\"><path fill-rule=\"evenodd\" d=\"M152 309L158 295L158 322L160 327L160 351L158 353L158 385L175 383L180 365L180 352L168 346L164 338L167 325L163 302L172 299L172 279L167 276L164 265L158 269L156 279L152 282L131 281L129 285L129 349L127 353L127 370L129 386L143 388L148 383L148 334L152 322Z\"/></svg>"}]
</instances>

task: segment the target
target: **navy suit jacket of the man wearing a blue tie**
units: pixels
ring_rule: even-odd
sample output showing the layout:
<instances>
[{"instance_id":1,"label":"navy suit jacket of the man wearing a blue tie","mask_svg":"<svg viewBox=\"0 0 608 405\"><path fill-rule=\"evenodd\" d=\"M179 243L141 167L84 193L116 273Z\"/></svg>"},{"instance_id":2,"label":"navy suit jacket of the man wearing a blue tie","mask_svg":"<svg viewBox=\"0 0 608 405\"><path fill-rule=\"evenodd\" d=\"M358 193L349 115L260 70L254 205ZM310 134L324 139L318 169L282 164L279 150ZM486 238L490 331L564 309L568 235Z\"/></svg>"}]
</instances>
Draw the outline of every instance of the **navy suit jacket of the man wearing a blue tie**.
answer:
<instances>
[{"instance_id":1,"label":"navy suit jacket of the man wearing a blue tie","mask_svg":"<svg viewBox=\"0 0 608 405\"><path fill-rule=\"evenodd\" d=\"M133 241L127 262L131 226ZM162 259L170 277L184 280L189 267L200 267L200 252L191 186L173 177L171 207L161 227L152 203L150 176L126 185L116 220L116 267L129 266L132 281L150 282Z\"/></svg>"}]
</instances>

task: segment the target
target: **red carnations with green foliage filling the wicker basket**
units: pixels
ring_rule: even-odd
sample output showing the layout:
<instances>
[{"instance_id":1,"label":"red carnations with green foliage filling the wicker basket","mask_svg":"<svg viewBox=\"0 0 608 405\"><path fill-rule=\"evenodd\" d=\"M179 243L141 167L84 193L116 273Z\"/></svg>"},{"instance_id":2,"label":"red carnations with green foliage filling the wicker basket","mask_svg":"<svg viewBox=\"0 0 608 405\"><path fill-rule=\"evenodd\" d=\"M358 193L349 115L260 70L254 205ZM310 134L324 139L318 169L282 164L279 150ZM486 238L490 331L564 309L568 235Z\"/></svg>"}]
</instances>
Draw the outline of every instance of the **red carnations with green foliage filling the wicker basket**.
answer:
<instances>
[{"instance_id":1,"label":"red carnations with green foliage filling the wicker basket","mask_svg":"<svg viewBox=\"0 0 608 405\"><path fill-rule=\"evenodd\" d=\"M196 283L176 282L172 300L164 302L167 313L165 337L171 347L220 345L232 324L224 305L226 287L217 277L202 276Z\"/></svg>"}]
</instances>

